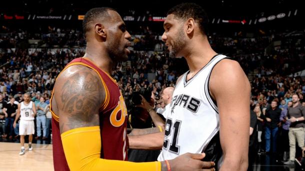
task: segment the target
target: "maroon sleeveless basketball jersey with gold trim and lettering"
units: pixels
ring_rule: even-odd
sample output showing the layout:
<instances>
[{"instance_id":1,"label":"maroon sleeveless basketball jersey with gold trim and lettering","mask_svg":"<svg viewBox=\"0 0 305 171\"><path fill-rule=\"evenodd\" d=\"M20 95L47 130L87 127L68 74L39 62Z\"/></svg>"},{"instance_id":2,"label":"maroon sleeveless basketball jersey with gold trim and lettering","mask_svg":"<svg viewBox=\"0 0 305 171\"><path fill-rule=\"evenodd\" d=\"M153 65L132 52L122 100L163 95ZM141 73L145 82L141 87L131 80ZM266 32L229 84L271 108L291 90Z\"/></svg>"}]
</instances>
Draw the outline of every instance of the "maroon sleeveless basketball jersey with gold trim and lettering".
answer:
<instances>
[{"instance_id":1,"label":"maroon sleeveless basketball jersey with gold trim and lettering","mask_svg":"<svg viewBox=\"0 0 305 171\"><path fill-rule=\"evenodd\" d=\"M127 111L123 96L119 91L116 81L107 73L95 66L91 61L84 58L76 58L72 60L65 66L63 71L72 65L84 65L94 70L99 75L101 84L103 84L105 89L106 97L99 110L99 127L101 137L100 158L127 161ZM58 77L59 76L60 74ZM50 102L51 101L52 97L50 99ZM52 110L51 113L54 170L68 171L69 168L64 156L59 132L60 118L55 115ZM79 150L85 150L85 147Z\"/></svg>"}]
</instances>

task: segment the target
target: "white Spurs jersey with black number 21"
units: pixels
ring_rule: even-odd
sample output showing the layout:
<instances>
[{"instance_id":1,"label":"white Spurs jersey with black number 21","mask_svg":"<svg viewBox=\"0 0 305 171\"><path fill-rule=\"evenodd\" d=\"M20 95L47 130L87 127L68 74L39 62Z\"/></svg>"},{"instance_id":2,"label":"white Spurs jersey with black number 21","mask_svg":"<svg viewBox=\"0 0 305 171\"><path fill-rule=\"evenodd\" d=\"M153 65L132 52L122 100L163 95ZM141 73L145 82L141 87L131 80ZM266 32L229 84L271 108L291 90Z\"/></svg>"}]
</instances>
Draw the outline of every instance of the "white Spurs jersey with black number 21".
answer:
<instances>
[{"instance_id":1,"label":"white Spurs jersey with black number 21","mask_svg":"<svg viewBox=\"0 0 305 171\"><path fill-rule=\"evenodd\" d=\"M222 156L218 109L209 95L208 80L212 68L224 58L227 57L214 56L191 79L186 81L187 71L177 83L169 109L164 111L167 116L165 136L158 161L204 152L204 161L221 163L218 162Z\"/></svg>"}]
</instances>

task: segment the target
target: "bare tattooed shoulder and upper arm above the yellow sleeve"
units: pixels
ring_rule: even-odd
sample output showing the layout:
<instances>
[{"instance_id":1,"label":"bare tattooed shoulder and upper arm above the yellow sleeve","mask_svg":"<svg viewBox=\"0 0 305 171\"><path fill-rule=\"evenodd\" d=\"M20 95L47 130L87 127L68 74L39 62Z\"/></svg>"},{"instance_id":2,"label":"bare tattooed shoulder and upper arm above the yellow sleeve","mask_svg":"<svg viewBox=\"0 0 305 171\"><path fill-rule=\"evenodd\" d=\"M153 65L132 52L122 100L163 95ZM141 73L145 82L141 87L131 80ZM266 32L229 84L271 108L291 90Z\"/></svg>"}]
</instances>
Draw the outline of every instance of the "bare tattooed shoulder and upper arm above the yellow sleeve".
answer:
<instances>
[{"instance_id":1,"label":"bare tattooed shoulder and upper arm above the yellow sleeve","mask_svg":"<svg viewBox=\"0 0 305 171\"><path fill-rule=\"evenodd\" d=\"M70 66L58 77L52 109L60 118L60 134L74 128L99 126L98 110L105 98L100 81L95 71L81 65Z\"/></svg>"}]
</instances>

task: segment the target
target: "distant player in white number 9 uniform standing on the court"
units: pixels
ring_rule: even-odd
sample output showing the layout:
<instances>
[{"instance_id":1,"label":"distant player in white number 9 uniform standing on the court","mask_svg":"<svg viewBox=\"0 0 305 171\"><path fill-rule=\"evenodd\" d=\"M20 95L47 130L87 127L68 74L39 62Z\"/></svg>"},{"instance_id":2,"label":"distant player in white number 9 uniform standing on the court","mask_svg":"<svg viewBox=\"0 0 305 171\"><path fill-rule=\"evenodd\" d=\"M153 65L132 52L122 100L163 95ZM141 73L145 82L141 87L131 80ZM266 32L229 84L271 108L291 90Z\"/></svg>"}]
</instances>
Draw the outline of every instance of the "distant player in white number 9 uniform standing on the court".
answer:
<instances>
[{"instance_id":1,"label":"distant player in white number 9 uniform standing on the court","mask_svg":"<svg viewBox=\"0 0 305 171\"><path fill-rule=\"evenodd\" d=\"M35 104L30 101L29 93L25 93L23 96L24 101L18 104L17 116L15 118L13 127L16 127L16 121L20 117L19 122L19 135L20 135L20 144L21 151L19 155L24 155L24 136L28 135L28 150L31 151L33 148L31 147L33 134L35 133L34 127L34 118L36 115Z\"/></svg>"}]
</instances>

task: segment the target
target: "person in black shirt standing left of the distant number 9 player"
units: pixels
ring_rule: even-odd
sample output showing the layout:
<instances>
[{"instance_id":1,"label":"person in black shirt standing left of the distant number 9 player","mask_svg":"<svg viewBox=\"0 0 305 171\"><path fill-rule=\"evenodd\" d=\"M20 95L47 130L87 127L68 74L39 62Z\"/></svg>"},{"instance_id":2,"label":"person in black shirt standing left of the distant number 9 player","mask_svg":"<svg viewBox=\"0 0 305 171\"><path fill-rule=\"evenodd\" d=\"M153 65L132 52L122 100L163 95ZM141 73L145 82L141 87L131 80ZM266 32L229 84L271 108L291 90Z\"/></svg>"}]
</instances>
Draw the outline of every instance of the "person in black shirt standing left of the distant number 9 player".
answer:
<instances>
[{"instance_id":1,"label":"person in black shirt standing left of the distant number 9 player","mask_svg":"<svg viewBox=\"0 0 305 171\"><path fill-rule=\"evenodd\" d=\"M5 114L5 129L8 130L9 139L12 139L14 132L13 123L18 109L18 106L14 104L14 101L15 99L11 96L9 103L3 108L3 113Z\"/></svg>"}]
</instances>

